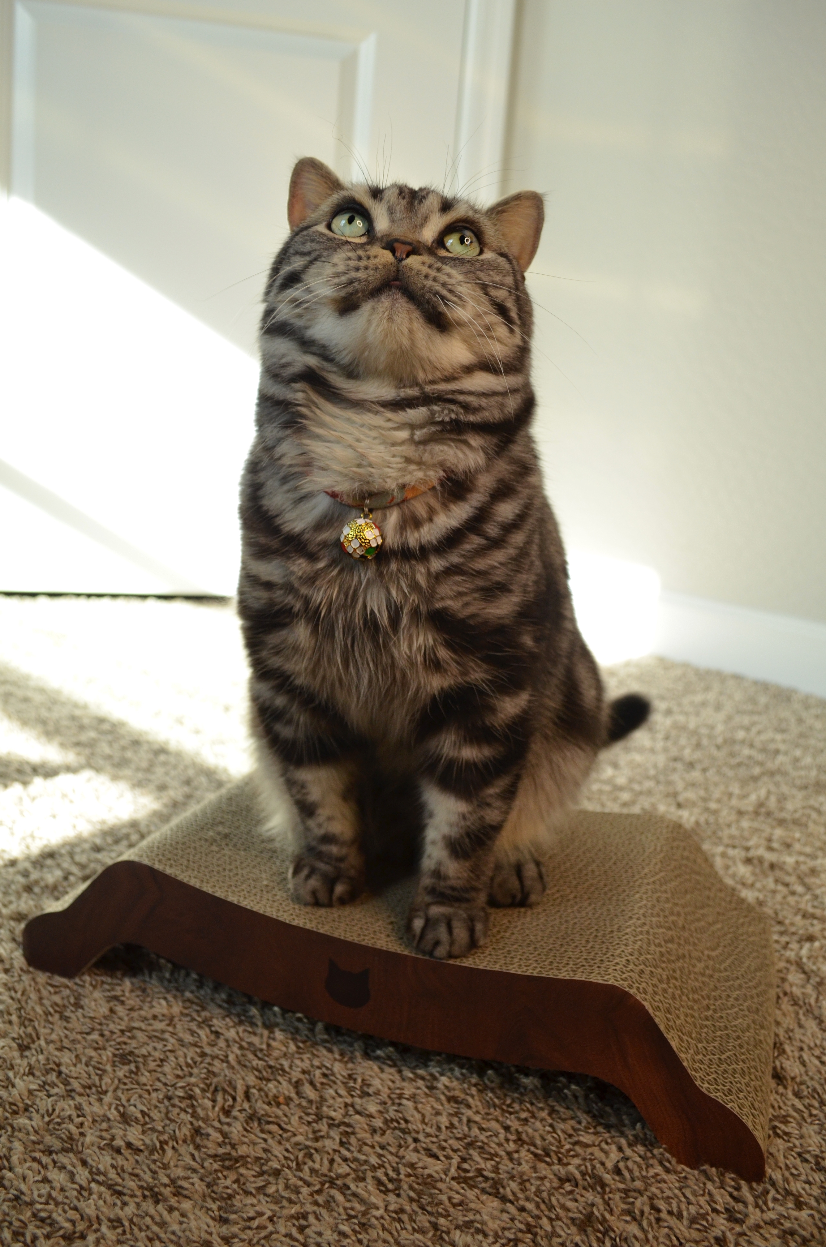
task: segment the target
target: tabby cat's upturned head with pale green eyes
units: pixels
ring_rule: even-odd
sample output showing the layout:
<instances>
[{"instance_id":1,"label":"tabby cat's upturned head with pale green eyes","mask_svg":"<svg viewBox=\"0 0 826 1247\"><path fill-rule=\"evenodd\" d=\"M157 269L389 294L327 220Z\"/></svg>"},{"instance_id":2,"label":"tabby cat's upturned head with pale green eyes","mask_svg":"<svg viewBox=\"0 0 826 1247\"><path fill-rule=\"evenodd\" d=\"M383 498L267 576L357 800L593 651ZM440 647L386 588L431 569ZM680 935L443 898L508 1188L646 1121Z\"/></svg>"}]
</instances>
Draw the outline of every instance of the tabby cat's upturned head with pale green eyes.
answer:
<instances>
[{"instance_id":1,"label":"tabby cat's upturned head with pale green eyes","mask_svg":"<svg viewBox=\"0 0 826 1247\"><path fill-rule=\"evenodd\" d=\"M523 273L544 217L534 191L480 208L427 187L346 186L304 158L287 216L292 233L265 293L267 354L303 335L351 374L415 385L473 367L504 372L524 353Z\"/></svg>"}]
</instances>

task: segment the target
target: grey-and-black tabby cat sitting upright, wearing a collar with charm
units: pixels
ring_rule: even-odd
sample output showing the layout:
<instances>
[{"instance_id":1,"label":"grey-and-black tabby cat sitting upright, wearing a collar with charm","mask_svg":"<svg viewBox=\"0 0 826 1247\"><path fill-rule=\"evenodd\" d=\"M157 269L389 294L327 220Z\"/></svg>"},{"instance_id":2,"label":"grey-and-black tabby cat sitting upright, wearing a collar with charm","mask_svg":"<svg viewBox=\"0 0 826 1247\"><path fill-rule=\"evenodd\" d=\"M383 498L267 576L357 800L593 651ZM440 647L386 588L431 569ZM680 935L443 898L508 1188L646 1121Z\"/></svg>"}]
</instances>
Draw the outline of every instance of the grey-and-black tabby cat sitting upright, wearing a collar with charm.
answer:
<instances>
[{"instance_id":1,"label":"grey-and-black tabby cat sitting upright, wearing a collar with charm","mask_svg":"<svg viewBox=\"0 0 826 1247\"><path fill-rule=\"evenodd\" d=\"M409 938L462 956L488 903L542 898L596 752L648 713L605 703L530 434L543 201L344 186L306 158L288 219L241 499L258 774L294 816L294 900L353 900L368 833L391 857L404 816Z\"/></svg>"}]
</instances>

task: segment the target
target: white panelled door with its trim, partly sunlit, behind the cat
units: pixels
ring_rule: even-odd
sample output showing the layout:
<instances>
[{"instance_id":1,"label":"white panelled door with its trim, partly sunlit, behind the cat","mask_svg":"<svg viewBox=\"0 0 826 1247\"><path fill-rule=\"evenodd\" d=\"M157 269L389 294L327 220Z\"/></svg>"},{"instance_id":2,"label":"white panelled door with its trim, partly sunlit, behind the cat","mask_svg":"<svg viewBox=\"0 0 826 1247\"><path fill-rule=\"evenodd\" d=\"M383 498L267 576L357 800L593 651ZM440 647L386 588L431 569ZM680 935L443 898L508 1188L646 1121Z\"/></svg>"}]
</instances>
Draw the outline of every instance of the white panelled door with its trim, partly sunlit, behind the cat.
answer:
<instances>
[{"instance_id":1,"label":"white panelled door with its trim, partly sunlit, behind the cat","mask_svg":"<svg viewBox=\"0 0 826 1247\"><path fill-rule=\"evenodd\" d=\"M494 198L514 2L0 4L0 590L232 594L292 165Z\"/></svg>"}]
</instances>

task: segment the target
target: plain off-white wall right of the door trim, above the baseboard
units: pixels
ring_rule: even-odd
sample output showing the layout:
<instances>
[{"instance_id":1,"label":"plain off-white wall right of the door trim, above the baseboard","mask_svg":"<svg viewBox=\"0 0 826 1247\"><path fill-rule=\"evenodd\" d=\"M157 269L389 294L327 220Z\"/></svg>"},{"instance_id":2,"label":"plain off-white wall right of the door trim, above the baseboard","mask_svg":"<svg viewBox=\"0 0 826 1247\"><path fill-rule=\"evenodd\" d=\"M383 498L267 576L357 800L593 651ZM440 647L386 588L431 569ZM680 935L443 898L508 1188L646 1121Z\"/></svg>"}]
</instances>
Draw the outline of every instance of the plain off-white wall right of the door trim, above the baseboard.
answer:
<instances>
[{"instance_id":1,"label":"plain off-white wall right of the door trim, above the baseboard","mask_svg":"<svg viewBox=\"0 0 826 1247\"><path fill-rule=\"evenodd\" d=\"M826 6L524 0L518 21L508 183L548 196L530 288L569 544L666 599L825 622Z\"/></svg>"}]
</instances>

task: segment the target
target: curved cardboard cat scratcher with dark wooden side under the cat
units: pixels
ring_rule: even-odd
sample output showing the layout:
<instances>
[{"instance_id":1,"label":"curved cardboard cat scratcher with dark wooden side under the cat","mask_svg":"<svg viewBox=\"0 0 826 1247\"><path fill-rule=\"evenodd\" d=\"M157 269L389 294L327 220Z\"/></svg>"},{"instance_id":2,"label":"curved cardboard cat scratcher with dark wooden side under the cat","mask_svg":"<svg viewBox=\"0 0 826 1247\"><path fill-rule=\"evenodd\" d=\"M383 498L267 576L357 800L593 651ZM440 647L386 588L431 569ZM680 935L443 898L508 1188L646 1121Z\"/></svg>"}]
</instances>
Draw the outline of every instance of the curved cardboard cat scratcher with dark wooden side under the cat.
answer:
<instances>
[{"instance_id":1,"label":"curved cardboard cat scratcher with dark wooden side under the cat","mask_svg":"<svg viewBox=\"0 0 826 1247\"><path fill-rule=\"evenodd\" d=\"M487 944L460 961L406 943L412 880L304 908L289 899L288 865L286 835L262 835L241 781L32 918L26 959L72 976L115 944L142 944L322 1021L593 1074L685 1165L762 1177L770 933L676 823L578 812L543 903L493 910Z\"/></svg>"}]
</instances>

